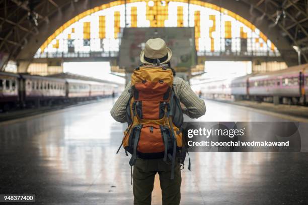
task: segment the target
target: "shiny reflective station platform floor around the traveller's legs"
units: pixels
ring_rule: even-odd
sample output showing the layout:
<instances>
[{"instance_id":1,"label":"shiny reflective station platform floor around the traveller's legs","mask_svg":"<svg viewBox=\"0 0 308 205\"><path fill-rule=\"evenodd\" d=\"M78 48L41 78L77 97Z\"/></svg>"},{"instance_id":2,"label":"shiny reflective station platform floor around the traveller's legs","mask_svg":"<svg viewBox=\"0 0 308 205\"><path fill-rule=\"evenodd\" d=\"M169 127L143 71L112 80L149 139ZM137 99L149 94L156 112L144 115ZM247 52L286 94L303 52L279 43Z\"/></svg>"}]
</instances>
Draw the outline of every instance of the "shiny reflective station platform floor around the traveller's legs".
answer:
<instances>
[{"instance_id":1,"label":"shiny reflective station platform floor around the traveller's legs","mask_svg":"<svg viewBox=\"0 0 308 205\"><path fill-rule=\"evenodd\" d=\"M129 157L115 154L126 125L110 116L114 102L0 123L0 193L35 194L35 204L133 204ZM217 101L206 106L196 121L296 120ZM308 203L308 152L190 156L192 171L182 170L183 205ZM158 178L152 204L162 204Z\"/></svg>"}]
</instances>

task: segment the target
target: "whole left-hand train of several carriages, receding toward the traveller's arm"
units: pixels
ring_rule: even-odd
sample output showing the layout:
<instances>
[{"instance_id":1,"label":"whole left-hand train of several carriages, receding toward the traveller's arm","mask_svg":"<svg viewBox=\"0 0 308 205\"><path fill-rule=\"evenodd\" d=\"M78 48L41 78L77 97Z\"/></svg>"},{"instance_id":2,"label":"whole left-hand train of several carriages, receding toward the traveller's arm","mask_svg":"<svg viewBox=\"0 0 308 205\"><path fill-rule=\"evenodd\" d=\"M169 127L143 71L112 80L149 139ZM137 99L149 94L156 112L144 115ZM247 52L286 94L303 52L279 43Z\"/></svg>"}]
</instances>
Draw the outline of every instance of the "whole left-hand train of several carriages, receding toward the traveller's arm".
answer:
<instances>
[{"instance_id":1,"label":"whole left-hand train of several carriages, receding toward the traveller's arm","mask_svg":"<svg viewBox=\"0 0 308 205\"><path fill-rule=\"evenodd\" d=\"M121 90L120 84L107 81L0 72L0 111L108 97Z\"/></svg>"}]
</instances>

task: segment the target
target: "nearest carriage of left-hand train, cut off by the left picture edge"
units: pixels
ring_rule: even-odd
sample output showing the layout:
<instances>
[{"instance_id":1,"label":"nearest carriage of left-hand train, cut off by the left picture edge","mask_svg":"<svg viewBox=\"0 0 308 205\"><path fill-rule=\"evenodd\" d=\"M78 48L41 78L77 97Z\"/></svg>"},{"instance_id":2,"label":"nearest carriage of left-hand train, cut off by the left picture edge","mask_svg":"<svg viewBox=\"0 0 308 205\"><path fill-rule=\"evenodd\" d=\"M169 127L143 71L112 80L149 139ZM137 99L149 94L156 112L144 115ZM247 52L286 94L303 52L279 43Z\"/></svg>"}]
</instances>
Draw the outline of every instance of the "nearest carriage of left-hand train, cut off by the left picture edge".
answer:
<instances>
[{"instance_id":1,"label":"nearest carriage of left-hand train, cut off by the left picture edge","mask_svg":"<svg viewBox=\"0 0 308 205\"><path fill-rule=\"evenodd\" d=\"M18 74L0 72L0 110L7 111L17 106L19 102L18 79Z\"/></svg>"}]
</instances>

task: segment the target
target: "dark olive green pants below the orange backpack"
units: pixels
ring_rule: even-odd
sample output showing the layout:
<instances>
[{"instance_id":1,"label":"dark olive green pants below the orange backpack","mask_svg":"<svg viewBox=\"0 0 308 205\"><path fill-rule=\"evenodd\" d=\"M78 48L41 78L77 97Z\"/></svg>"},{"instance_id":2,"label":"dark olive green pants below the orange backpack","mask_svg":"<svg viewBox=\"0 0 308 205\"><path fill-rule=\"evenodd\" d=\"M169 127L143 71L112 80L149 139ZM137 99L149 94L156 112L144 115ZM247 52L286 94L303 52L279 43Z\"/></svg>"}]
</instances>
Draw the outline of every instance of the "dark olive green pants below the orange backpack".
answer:
<instances>
[{"instance_id":1,"label":"dark olive green pants below the orange backpack","mask_svg":"<svg viewBox=\"0 0 308 205\"><path fill-rule=\"evenodd\" d=\"M151 204L155 174L159 173L163 205L178 205L181 200L181 170L176 160L174 179L170 179L171 165L163 159L137 159L133 170L134 205Z\"/></svg>"}]
</instances>

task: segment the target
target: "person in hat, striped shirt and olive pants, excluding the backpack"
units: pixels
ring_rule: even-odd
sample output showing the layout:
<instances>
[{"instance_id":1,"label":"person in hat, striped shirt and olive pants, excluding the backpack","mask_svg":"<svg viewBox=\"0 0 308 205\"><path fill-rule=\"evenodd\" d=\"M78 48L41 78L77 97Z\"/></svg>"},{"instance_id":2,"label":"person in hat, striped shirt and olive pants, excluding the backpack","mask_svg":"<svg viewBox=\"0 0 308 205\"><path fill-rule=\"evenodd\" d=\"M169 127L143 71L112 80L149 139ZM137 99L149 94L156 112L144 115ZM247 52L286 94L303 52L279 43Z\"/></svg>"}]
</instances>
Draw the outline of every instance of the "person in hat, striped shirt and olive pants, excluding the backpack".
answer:
<instances>
[{"instance_id":1,"label":"person in hat, striped shirt and olive pants, excluding the backpack","mask_svg":"<svg viewBox=\"0 0 308 205\"><path fill-rule=\"evenodd\" d=\"M172 51L163 39L149 39L144 50L141 51L140 61L144 65L160 62L161 65L170 67ZM171 68L171 67L170 67ZM174 75L176 72L173 70ZM191 89L188 82L182 78L174 77L173 87L175 95L184 104L183 113L190 118L199 118L205 114L205 104ZM130 82L111 109L111 116L118 122L125 123L125 109L130 97ZM174 179L170 179L171 165L163 159L136 160L133 169L133 194L134 204L151 204L155 174L159 173L163 195L163 205L180 204L181 200L181 172L179 159L174 169Z\"/></svg>"}]
</instances>

